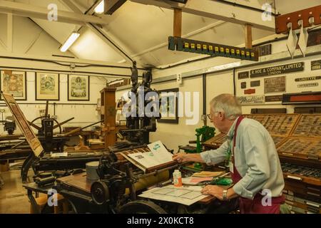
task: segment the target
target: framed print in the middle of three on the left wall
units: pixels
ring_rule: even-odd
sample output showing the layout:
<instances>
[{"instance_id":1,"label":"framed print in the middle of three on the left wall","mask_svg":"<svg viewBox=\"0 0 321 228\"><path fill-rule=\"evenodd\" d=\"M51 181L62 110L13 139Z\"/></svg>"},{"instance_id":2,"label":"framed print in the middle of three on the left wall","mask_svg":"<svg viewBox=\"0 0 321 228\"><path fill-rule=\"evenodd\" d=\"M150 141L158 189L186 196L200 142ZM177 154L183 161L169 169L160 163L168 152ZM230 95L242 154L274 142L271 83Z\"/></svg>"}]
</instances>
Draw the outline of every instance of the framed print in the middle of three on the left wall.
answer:
<instances>
[{"instance_id":1,"label":"framed print in the middle of three on the left wall","mask_svg":"<svg viewBox=\"0 0 321 228\"><path fill-rule=\"evenodd\" d=\"M59 100L58 73L36 73L36 100Z\"/></svg>"}]
</instances>

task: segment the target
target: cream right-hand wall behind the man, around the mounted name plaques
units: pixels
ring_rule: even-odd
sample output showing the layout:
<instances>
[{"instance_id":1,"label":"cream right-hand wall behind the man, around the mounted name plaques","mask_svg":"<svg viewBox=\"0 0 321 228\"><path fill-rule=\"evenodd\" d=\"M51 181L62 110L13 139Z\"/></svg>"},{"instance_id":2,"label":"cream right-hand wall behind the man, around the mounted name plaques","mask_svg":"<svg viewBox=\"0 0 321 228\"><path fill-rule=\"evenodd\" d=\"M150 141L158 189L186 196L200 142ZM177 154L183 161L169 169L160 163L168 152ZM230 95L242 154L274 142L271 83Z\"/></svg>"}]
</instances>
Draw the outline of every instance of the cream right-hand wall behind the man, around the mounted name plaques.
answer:
<instances>
[{"instance_id":1,"label":"cream right-hand wall behind the man, around the mounted name plaques","mask_svg":"<svg viewBox=\"0 0 321 228\"><path fill-rule=\"evenodd\" d=\"M287 51L285 46L285 41L277 41L272 43L272 53L280 53ZM274 63L265 63L259 64L257 66L244 67L240 69L236 69L235 71L235 92L236 95L244 95L244 90L248 88L255 88L255 94L253 95L264 95L264 79L265 78L274 78L285 76L285 93L297 93L301 91L320 91L321 90L321 81L307 81L301 83L319 83L318 86L310 87L310 88L297 88L299 83L295 82L295 78L302 78L308 76L320 76L321 70L311 71L311 61L320 60L321 56L307 56L305 58L295 58L290 60L282 60ZM175 68L168 68L166 70L153 71L154 78L162 78L165 76L172 76L176 73L187 73L191 71L199 71L200 69L210 68L210 67L219 67L228 63L238 63L239 61L231 58L211 58L205 61L198 61L194 63L189 63L185 65L181 65ZM295 73L285 73L275 76L263 76L258 78L246 78L246 79L238 79L238 73L258 69L265 68L269 66L280 66L287 63L299 63L304 62L305 67L304 71L295 72ZM211 64L211 65L210 65ZM247 88L241 89L240 83L247 83ZM260 86L251 87L250 81L260 81ZM183 83L178 85L176 81L164 82L164 83L152 83L151 88L156 88L156 90L163 90L167 88L179 88L180 91L198 91L200 93L200 116L197 125L186 125L185 118L179 118L178 124L169 124L169 123L158 123L156 133L151 133L151 141L161 140L165 145L174 149L175 151L178 149L178 145L186 145L189 140L195 140L195 128L200 128L203 125L203 121L200 120L200 117L203 113L203 89L202 89L202 77L195 76L194 78L183 78ZM121 90L116 93L116 98L121 98L121 94L125 91ZM210 100L219 95L220 93L234 93L233 89L233 70L220 71L219 73L208 73L206 74L206 110L209 113L209 103ZM278 95L282 93L268 93L267 95ZM316 106L316 105L300 105L301 106ZM317 105L320 106L320 105ZM250 113L251 108L287 108L287 113L293 113L294 105L282 105L281 102L269 102L263 105L244 105L243 113ZM208 120L208 125L212 125ZM218 133L218 130L216 130Z\"/></svg>"}]
</instances>

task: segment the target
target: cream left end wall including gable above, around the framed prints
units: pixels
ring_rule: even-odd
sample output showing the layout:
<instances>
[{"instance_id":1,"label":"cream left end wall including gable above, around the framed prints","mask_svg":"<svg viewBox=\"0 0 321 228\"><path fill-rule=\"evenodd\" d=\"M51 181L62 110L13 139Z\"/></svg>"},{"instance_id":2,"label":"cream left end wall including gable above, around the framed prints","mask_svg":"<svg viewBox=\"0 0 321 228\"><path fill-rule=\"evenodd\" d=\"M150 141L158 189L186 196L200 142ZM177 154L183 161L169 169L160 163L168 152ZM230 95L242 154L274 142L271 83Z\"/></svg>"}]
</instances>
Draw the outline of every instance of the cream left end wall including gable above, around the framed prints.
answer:
<instances>
[{"instance_id":1,"label":"cream left end wall including gable above, around the framed prints","mask_svg":"<svg viewBox=\"0 0 321 228\"><path fill-rule=\"evenodd\" d=\"M106 74L128 74L130 69L121 68L107 68L104 65L108 63L84 61L79 58L62 58L63 56L72 57L73 53L66 51L62 53L59 51L61 43L56 41L43 28L35 24L31 19L22 16L13 17L13 40L12 51L8 49L7 42L7 16L0 14L0 71L24 71L26 72L26 100L17 100L19 107L23 111L26 119L31 121L40 116L40 110L46 108L45 100L35 99L35 72L51 72L60 74L60 100L50 100L49 114L54 115L54 105L56 103L56 115L58 123L63 120L74 117L71 122L66 123L66 126L86 126L100 120L100 115L96 113L97 99L100 98L99 91L106 86L107 81L112 81L115 78L109 78ZM21 36L21 34L28 34L28 36ZM59 57L53 57L57 55ZM6 58L9 56L9 58ZM18 58L16 58L18 57ZM21 58L19 58L21 57ZM33 59L40 59L39 61ZM60 61L51 61L52 59L59 59ZM71 68L71 63L68 61L75 61L75 68ZM97 63L98 65L91 64ZM86 66L86 67L83 67ZM80 74L90 76L90 100L88 101L74 101L68 100L67 77L68 73L72 71L81 71ZM36 103L36 104L30 104ZM73 105L69 105L69 104ZM9 109L6 107L4 100L0 100L0 110L4 110L4 119L11 116ZM0 120L2 115L0 113ZM40 124L38 120L36 124ZM89 128L88 128L89 129ZM36 130L35 130L36 132ZM19 128L15 133L20 133ZM0 134L7 134L4 132L3 125L0 123Z\"/></svg>"}]
</instances>

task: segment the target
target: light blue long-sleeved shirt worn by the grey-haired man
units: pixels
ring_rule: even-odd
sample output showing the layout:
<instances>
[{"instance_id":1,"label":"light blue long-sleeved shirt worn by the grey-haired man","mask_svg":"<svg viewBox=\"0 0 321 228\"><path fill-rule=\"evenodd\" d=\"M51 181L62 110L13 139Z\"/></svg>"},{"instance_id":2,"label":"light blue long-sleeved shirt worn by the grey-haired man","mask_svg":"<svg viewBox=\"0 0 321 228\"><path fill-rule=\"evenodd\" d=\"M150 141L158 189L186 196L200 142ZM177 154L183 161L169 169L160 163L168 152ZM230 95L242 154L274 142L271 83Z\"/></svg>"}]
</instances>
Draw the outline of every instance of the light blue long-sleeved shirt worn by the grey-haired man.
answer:
<instances>
[{"instance_id":1,"label":"light blue long-sleeved shirt worn by the grey-haired man","mask_svg":"<svg viewBox=\"0 0 321 228\"><path fill-rule=\"evenodd\" d=\"M208 165L223 162L229 147L233 148L237 120L228 131L227 140L217 150L200 153ZM280 160L272 137L263 125L244 118L238 126L235 144L235 167L243 178L233 186L233 190L248 199L253 199L261 190L270 190L272 197L282 195L284 180Z\"/></svg>"}]
</instances>

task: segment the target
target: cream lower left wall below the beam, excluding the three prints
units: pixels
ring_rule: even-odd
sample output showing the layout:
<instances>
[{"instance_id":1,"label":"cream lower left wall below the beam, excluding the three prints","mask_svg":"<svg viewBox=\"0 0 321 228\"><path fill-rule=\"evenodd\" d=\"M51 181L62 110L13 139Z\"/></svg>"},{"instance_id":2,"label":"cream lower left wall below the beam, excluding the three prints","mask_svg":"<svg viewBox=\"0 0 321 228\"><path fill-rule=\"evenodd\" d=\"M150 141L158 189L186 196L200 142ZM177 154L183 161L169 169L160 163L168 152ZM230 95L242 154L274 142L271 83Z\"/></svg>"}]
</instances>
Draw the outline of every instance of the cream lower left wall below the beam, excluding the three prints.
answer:
<instances>
[{"instance_id":1,"label":"cream lower left wall below the beam, excluding the three prints","mask_svg":"<svg viewBox=\"0 0 321 228\"><path fill-rule=\"evenodd\" d=\"M27 78L27 100L17 100L19 107L26 116L26 119L31 121L40 116L40 110L46 108L45 100L35 100L35 73L26 72ZM98 78L96 76L90 77L90 88L89 95L90 100L88 101L76 101L68 100L67 92L67 78L68 75L60 74L60 100L50 100L49 103L49 114L54 115L54 103L56 103L56 115L58 123L63 120L74 117L69 123L63 125L67 126L86 126L90 123L94 123L100 120L100 115L96 112L97 99L100 98L99 91L106 86L106 78ZM37 103L37 104L29 104ZM72 105L70 105L72 103ZM0 109L5 110L4 119L6 116L11 116L9 108L6 107L3 100L0 101ZM1 117L0 117L1 118ZM41 122L37 120L36 124ZM15 133L19 133L20 130L17 129ZM4 129L0 128L0 134L4 133Z\"/></svg>"}]
</instances>

